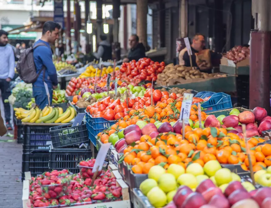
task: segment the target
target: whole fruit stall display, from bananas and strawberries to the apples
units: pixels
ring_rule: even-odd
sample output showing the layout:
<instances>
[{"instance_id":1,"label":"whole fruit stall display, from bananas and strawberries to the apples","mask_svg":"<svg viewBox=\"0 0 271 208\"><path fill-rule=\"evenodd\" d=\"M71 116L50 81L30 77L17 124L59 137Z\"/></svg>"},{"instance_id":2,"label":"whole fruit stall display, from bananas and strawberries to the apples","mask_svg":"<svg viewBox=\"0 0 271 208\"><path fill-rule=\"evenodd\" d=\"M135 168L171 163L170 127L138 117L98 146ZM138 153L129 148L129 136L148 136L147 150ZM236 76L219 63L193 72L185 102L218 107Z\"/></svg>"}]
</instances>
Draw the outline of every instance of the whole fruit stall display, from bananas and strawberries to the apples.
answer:
<instances>
[{"instance_id":1,"label":"whole fruit stall display, from bananas and strawberries to the apples","mask_svg":"<svg viewBox=\"0 0 271 208\"><path fill-rule=\"evenodd\" d=\"M172 70L190 87L169 85ZM90 65L67 110L16 106L23 207L270 207L271 117L233 108L212 81L231 77L147 58Z\"/></svg>"}]
</instances>

